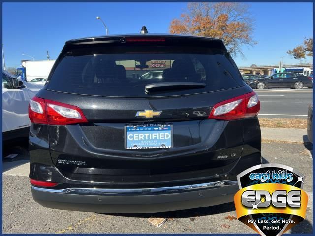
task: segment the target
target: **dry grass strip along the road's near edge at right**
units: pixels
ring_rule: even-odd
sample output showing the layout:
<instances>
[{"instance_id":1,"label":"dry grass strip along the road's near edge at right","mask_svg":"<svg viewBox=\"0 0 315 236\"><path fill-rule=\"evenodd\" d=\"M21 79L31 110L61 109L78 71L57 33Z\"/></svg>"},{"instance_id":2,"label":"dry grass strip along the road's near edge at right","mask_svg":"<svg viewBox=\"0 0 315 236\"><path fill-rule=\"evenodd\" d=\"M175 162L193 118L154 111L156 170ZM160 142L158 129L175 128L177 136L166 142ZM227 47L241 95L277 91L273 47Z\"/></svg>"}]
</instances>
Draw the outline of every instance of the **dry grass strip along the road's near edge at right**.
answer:
<instances>
[{"instance_id":1,"label":"dry grass strip along the road's near edge at right","mask_svg":"<svg viewBox=\"0 0 315 236\"><path fill-rule=\"evenodd\" d=\"M306 129L307 119L259 118L261 127Z\"/></svg>"}]
</instances>

